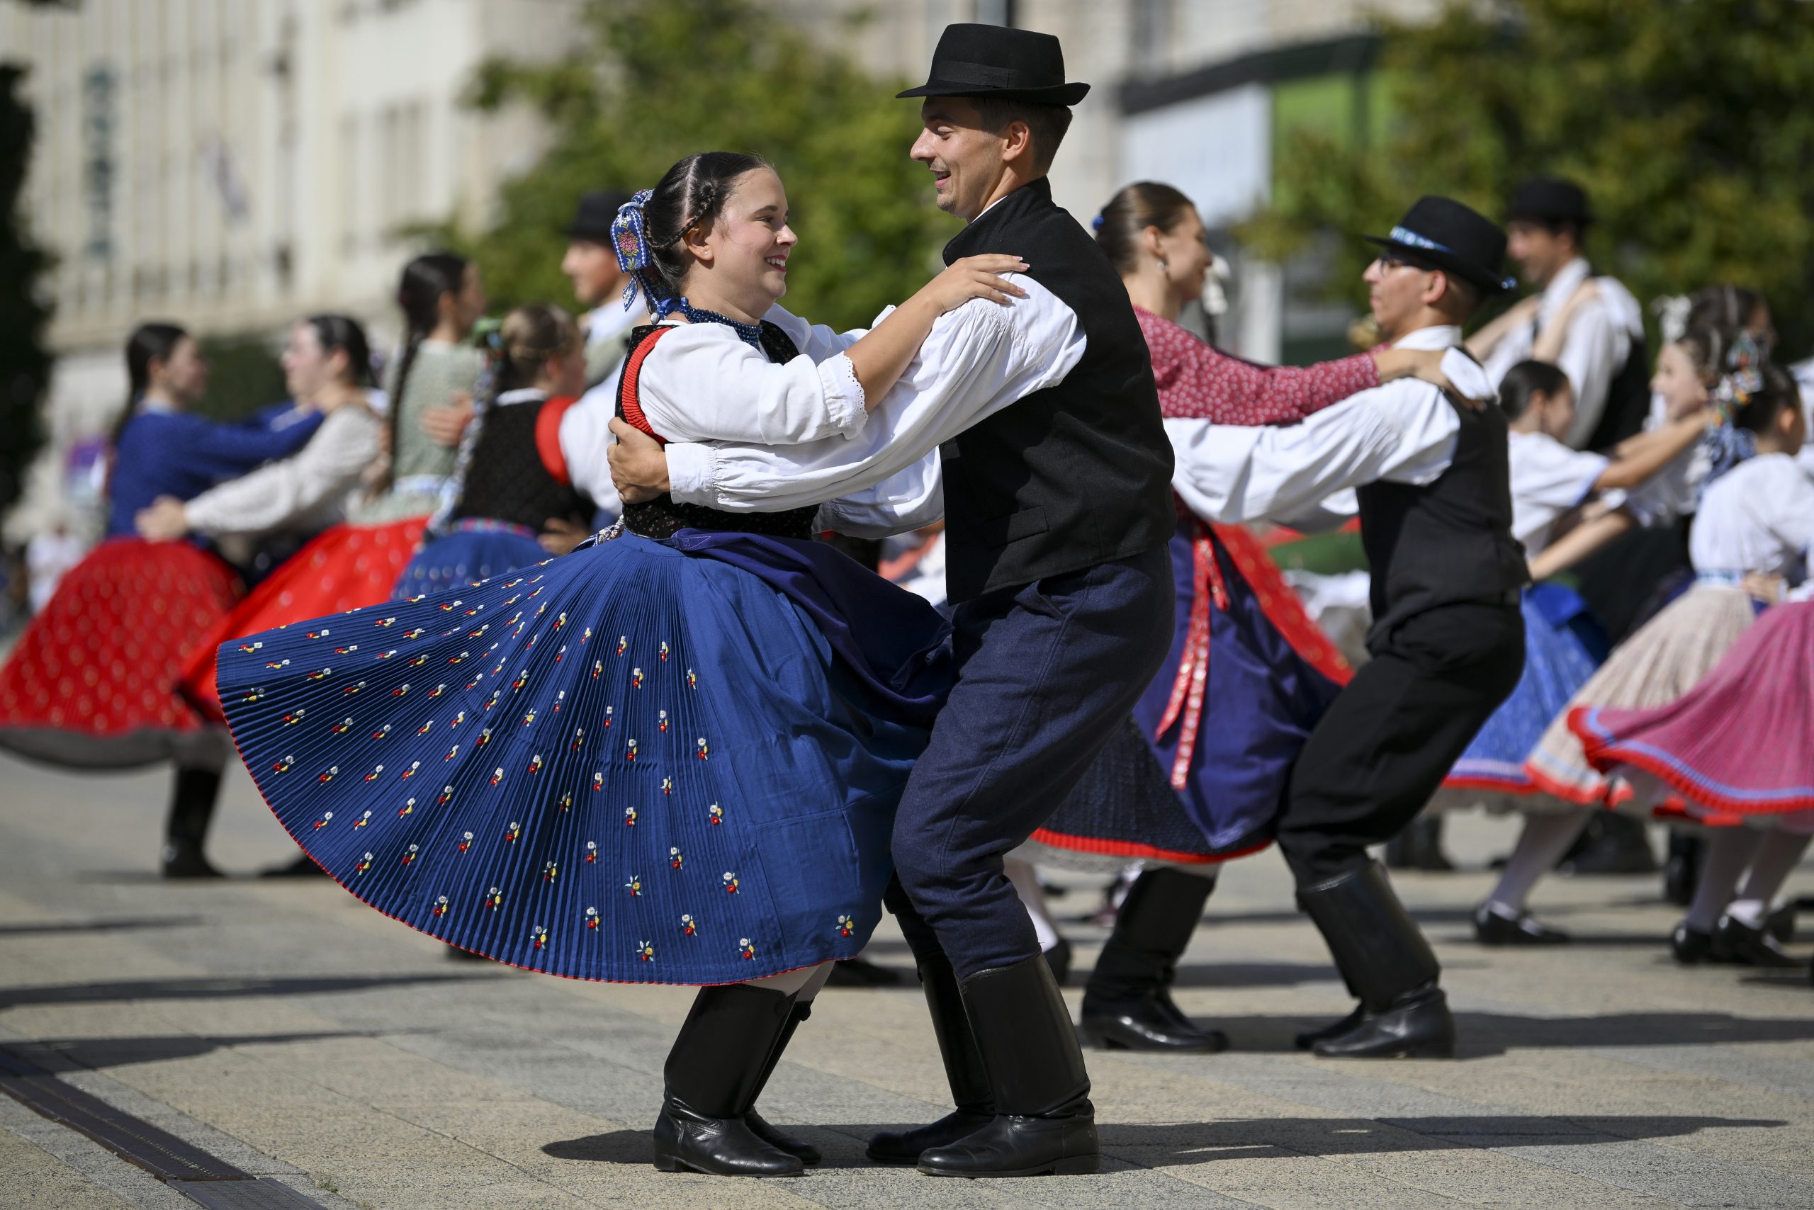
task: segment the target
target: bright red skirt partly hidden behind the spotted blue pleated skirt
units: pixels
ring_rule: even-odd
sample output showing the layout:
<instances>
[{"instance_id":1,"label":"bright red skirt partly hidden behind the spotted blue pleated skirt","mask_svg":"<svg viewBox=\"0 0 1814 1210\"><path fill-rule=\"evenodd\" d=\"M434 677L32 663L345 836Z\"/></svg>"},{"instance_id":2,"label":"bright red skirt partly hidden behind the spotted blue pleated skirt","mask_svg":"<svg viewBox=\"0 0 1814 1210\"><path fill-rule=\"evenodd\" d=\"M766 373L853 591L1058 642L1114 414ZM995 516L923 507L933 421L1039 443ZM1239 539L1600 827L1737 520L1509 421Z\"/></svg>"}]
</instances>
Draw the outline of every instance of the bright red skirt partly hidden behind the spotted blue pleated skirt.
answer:
<instances>
[{"instance_id":1,"label":"bright red skirt partly hidden behind the spotted blue pleated skirt","mask_svg":"<svg viewBox=\"0 0 1814 1210\"><path fill-rule=\"evenodd\" d=\"M189 653L180 680L183 697L210 720L225 722L214 689L214 660L223 642L390 600L426 528L428 517L406 517L385 524L337 524L310 539Z\"/></svg>"}]
</instances>

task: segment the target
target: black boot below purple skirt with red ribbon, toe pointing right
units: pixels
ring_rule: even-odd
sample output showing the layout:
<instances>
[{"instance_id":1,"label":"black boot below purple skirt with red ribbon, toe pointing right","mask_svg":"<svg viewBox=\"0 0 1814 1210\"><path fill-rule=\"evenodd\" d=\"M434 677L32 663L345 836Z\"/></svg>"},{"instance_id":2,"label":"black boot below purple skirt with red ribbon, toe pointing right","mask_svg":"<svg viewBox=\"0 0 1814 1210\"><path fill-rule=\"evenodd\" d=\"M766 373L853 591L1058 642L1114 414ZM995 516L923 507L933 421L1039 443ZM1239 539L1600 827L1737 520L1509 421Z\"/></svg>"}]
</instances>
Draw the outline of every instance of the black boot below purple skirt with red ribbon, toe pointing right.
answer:
<instances>
[{"instance_id":1,"label":"black boot below purple skirt with red ribbon, toe pointing right","mask_svg":"<svg viewBox=\"0 0 1814 1210\"><path fill-rule=\"evenodd\" d=\"M1226 1034L1197 1029L1168 990L1214 889L1214 878L1177 869L1148 869L1139 876L1083 989L1081 1030L1088 1043L1172 1054L1228 1049Z\"/></svg>"}]
</instances>

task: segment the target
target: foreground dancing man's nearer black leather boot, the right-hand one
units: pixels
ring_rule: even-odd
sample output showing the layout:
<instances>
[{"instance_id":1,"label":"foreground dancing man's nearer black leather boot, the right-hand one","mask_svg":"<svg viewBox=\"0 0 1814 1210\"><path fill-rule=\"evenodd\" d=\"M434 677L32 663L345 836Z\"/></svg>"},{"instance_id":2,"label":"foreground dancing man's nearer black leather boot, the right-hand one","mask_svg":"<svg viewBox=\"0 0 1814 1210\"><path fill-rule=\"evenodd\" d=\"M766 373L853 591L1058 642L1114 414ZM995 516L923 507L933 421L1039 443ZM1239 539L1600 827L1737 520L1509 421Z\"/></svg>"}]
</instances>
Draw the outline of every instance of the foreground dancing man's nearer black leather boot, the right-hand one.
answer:
<instances>
[{"instance_id":1,"label":"foreground dancing man's nearer black leather boot, the right-hand one","mask_svg":"<svg viewBox=\"0 0 1814 1210\"><path fill-rule=\"evenodd\" d=\"M958 1143L920 1156L929 1176L1076 1176L1096 1172L1090 1074L1058 994L1034 954L963 980L963 1007L996 1094L996 1116Z\"/></svg>"}]
</instances>

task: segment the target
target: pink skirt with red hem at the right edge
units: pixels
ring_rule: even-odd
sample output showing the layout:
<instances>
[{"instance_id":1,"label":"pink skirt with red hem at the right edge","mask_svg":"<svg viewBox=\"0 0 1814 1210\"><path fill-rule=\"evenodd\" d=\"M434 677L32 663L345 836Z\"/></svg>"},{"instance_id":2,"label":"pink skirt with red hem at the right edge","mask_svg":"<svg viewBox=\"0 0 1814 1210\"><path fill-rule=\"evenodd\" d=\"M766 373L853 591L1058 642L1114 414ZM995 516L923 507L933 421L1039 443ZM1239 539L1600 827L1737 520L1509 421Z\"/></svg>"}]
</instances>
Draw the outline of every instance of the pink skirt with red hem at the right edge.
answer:
<instances>
[{"instance_id":1,"label":"pink skirt with red hem at the right edge","mask_svg":"<svg viewBox=\"0 0 1814 1210\"><path fill-rule=\"evenodd\" d=\"M1647 775L1709 824L1814 807L1814 602L1765 610L1667 706L1569 711L1587 760Z\"/></svg>"}]
</instances>

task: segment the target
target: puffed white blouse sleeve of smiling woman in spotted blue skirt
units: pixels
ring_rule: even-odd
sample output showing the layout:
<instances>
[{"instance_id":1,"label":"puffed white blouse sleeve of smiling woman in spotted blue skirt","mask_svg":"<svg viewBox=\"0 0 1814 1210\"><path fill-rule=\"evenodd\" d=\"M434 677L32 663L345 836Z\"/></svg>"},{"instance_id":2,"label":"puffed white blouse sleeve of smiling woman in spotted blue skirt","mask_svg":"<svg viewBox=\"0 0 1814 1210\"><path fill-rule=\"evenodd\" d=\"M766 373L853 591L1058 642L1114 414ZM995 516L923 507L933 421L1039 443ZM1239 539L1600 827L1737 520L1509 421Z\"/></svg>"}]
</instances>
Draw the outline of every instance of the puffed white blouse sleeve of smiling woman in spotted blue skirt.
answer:
<instances>
[{"instance_id":1,"label":"puffed white blouse sleeve of smiling woman in spotted blue skirt","mask_svg":"<svg viewBox=\"0 0 1814 1210\"><path fill-rule=\"evenodd\" d=\"M780 365L722 323L675 325L642 361L637 403L668 441L800 444L863 432L869 412L842 352Z\"/></svg>"}]
</instances>

